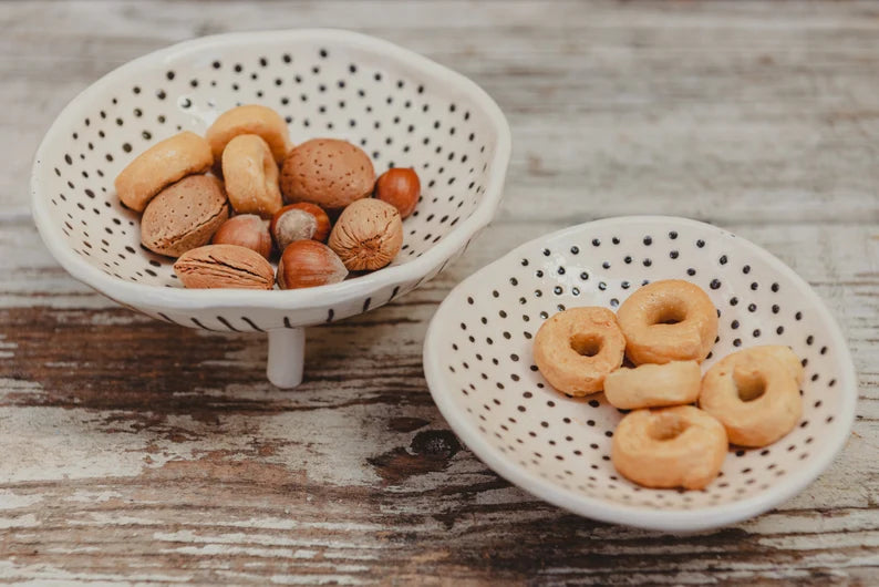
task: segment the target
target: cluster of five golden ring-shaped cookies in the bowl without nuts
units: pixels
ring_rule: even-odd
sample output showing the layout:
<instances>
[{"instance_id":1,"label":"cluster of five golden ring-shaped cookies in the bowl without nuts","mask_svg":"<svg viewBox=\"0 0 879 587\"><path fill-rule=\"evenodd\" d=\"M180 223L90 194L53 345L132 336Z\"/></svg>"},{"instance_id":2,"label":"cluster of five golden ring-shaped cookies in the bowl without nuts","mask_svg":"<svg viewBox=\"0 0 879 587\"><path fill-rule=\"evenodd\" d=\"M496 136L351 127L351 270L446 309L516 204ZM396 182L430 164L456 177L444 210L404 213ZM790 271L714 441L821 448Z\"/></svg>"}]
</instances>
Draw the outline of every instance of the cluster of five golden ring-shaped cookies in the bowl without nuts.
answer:
<instances>
[{"instance_id":1,"label":"cluster of five golden ring-shaped cookies in the bowl without nuts","mask_svg":"<svg viewBox=\"0 0 879 587\"><path fill-rule=\"evenodd\" d=\"M703 377L700 363L716 337L707 294L666 279L632 294L616 316L600 307L551 316L534 357L558 391L603 391L614 408L632 410L613 433L620 474L645 487L701 490L718 475L731 443L772 444L803 413L803 364L789 347L740 350ZM625 357L633 367L622 367Z\"/></svg>"}]
</instances>

